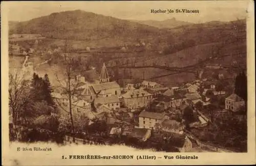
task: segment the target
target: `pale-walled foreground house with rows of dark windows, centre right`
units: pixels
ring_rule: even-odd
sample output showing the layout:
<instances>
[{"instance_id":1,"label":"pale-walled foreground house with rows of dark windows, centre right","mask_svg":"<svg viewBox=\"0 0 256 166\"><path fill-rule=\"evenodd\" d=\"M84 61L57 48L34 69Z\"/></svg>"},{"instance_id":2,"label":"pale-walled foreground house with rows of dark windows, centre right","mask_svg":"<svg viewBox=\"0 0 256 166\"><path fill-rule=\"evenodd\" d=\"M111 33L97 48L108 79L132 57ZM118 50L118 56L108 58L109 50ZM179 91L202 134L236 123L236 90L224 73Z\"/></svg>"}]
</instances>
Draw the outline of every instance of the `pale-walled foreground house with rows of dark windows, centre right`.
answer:
<instances>
[{"instance_id":1,"label":"pale-walled foreground house with rows of dark windows, centre right","mask_svg":"<svg viewBox=\"0 0 256 166\"><path fill-rule=\"evenodd\" d=\"M155 129L156 123L161 123L163 118L163 113L142 111L139 114L139 128Z\"/></svg>"}]
</instances>

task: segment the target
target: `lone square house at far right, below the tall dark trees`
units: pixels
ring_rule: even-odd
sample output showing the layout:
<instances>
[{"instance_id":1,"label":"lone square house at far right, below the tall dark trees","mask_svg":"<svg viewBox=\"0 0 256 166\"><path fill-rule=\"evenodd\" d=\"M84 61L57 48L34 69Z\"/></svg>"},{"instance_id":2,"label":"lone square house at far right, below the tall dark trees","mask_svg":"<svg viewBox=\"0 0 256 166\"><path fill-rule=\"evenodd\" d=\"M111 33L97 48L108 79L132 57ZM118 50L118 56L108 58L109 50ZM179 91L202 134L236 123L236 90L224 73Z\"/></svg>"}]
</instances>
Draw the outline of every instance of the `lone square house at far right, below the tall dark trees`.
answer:
<instances>
[{"instance_id":1,"label":"lone square house at far right, below the tall dark trees","mask_svg":"<svg viewBox=\"0 0 256 166\"><path fill-rule=\"evenodd\" d=\"M231 94L225 99L225 108L232 112L238 112L245 105L245 101L237 94Z\"/></svg>"}]
</instances>

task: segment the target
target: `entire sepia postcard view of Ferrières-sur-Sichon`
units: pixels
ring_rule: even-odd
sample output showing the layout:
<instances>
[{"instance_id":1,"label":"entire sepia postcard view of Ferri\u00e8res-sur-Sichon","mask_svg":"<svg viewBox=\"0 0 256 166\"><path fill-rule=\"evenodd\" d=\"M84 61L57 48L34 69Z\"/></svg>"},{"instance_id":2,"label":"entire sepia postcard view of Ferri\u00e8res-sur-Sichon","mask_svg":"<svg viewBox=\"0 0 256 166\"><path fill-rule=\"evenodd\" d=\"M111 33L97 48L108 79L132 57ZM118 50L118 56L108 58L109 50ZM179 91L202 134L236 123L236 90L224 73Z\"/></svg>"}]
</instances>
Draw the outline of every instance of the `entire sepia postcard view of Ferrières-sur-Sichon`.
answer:
<instances>
[{"instance_id":1,"label":"entire sepia postcard view of Ferri\u00e8res-sur-Sichon","mask_svg":"<svg viewBox=\"0 0 256 166\"><path fill-rule=\"evenodd\" d=\"M94 164L248 153L249 5L254 13L251 1L1 3L2 133L8 146L20 144L9 148L31 157L66 148L56 159ZM250 137L255 155L255 131ZM77 155L74 146L95 151ZM104 156L104 147L141 152Z\"/></svg>"}]
</instances>

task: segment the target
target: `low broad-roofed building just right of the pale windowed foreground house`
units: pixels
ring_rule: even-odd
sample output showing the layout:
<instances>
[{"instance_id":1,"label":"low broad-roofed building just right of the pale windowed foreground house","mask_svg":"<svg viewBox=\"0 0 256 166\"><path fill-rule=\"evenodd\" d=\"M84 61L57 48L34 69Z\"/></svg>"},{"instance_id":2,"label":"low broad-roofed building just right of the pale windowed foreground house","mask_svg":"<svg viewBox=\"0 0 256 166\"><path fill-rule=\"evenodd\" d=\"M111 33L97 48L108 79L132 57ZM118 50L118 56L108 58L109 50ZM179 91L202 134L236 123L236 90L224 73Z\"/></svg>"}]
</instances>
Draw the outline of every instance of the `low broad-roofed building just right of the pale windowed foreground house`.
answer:
<instances>
[{"instance_id":1,"label":"low broad-roofed building just right of the pale windowed foreground house","mask_svg":"<svg viewBox=\"0 0 256 166\"><path fill-rule=\"evenodd\" d=\"M160 130L166 132L173 132L177 134L183 134L185 128L184 124L176 120L165 119L156 125Z\"/></svg>"}]
</instances>

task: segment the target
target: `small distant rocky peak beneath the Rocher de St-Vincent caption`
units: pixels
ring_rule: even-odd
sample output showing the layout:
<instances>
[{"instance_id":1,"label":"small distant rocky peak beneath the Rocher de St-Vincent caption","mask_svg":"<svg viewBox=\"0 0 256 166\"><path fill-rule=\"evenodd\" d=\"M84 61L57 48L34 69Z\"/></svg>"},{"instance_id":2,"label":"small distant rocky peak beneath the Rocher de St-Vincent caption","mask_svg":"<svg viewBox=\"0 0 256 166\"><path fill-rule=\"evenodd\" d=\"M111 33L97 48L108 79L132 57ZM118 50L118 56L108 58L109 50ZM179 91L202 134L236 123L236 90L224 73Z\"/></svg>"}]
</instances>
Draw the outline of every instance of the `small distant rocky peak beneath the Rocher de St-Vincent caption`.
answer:
<instances>
[{"instance_id":1,"label":"small distant rocky peak beneath the Rocher de St-Vincent caption","mask_svg":"<svg viewBox=\"0 0 256 166\"><path fill-rule=\"evenodd\" d=\"M157 20L130 20L130 21L134 21L134 22L138 22L138 23L146 24L146 25L150 25L150 26L155 26L160 29L162 29L162 28L170 29L170 28L174 28L177 26L194 24L191 22L179 21L179 20L176 20L175 18L166 19L163 21L157 21Z\"/></svg>"}]
</instances>

